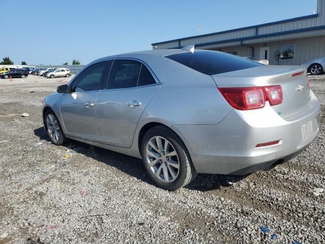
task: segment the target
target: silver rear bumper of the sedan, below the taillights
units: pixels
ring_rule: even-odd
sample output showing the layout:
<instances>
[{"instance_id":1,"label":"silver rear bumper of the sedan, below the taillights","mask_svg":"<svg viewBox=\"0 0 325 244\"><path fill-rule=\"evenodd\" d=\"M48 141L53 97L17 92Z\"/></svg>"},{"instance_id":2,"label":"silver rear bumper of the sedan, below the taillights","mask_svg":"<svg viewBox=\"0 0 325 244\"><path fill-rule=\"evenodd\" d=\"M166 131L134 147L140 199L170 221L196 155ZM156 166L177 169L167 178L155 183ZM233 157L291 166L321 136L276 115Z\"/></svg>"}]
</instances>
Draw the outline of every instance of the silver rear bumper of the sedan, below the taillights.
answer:
<instances>
[{"instance_id":1,"label":"silver rear bumper of the sedan, below the taillights","mask_svg":"<svg viewBox=\"0 0 325 244\"><path fill-rule=\"evenodd\" d=\"M246 174L299 154L317 135L319 111L312 94L309 106L287 119L266 106L248 111L234 109L216 125L175 125L172 129L187 146L198 173ZM312 129L306 138L302 127L307 123ZM256 148L259 143L276 140L280 143Z\"/></svg>"}]
</instances>

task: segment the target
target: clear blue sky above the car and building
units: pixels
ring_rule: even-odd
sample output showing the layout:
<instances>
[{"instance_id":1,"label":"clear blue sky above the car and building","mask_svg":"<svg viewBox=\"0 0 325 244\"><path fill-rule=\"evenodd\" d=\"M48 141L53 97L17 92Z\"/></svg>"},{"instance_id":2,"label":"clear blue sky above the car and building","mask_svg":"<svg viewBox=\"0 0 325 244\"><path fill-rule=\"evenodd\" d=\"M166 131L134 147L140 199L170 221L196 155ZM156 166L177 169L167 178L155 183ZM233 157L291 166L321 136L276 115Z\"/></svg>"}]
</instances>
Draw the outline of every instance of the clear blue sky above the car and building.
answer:
<instances>
[{"instance_id":1,"label":"clear blue sky above the car and building","mask_svg":"<svg viewBox=\"0 0 325 244\"><path fill-rule=\"evenodd\" d=\"M5 1L0 58L14 64L81 64L151 49L151 43L316 12L317 0ZM199 31L199 29L202 29Z\"/></svg>"}]
</instances>

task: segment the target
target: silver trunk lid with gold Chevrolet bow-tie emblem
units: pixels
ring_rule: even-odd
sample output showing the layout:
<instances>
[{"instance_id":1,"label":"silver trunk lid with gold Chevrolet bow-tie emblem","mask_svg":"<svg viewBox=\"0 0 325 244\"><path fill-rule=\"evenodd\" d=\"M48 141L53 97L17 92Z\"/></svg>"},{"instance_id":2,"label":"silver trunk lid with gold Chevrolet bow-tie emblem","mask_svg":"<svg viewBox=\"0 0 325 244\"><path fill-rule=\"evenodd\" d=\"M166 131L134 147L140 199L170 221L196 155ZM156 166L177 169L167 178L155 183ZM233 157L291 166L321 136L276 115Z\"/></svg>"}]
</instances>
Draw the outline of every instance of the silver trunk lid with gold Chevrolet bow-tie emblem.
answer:
<instances>
[{"instance_id":1,"label":"silver trunk lid with gold Chevrolet bow-tie emblem","mask_svg":"<svg viewBox=\"0 0 325 244\"><path fill-rule=\"evenodd\" d=\"M272 108L282 117L293 116L308 106L310 89L307 72L297 66L262 66L212 75L218 87L281 85L283 102Z\"/></svg>"}]
</instances>

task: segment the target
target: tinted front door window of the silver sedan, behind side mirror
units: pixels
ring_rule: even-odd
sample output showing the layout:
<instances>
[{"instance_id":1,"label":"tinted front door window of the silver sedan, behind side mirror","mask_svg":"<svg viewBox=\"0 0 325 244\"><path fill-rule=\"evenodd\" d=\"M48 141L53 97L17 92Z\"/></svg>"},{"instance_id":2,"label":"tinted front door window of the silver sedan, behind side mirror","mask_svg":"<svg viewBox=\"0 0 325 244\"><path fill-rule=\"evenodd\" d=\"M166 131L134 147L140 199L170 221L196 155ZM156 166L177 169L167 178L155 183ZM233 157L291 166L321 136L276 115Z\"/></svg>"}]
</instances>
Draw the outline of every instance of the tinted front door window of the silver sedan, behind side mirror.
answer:
<instances>
[{"instance_id":1,"label":"tinted front door window of the silver sedan, behind side mirror","mask_svg":"<svg viewBox=\"0 0 325 244\"><path fill-rule=\"evenodd\" d=\"M73 81L71 92L88 92L101 89L107 65L108 62L101 62L82 71Z\"/></svg>"}]
</instances>

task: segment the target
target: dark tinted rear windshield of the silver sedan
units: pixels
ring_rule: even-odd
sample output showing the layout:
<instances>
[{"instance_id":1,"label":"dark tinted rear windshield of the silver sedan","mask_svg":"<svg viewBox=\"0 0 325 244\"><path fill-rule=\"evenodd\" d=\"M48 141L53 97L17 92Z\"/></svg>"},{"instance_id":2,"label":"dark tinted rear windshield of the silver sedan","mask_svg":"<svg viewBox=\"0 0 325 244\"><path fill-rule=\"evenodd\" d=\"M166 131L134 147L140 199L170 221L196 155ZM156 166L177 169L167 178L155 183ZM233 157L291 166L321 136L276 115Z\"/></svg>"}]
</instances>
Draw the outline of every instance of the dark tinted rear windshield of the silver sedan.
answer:
<instances>
[{"instance_id":1,"label":"dark tinted rear windshield of the silver sedan","mask_svg":"<svg viewBox=\"0 0 325 244\"><path fill-rule=\"evenodd\" d=\"M206 75L263 66L245 58L218 51L184 52L166 57Z\"/></svg>"}]
</instances>

